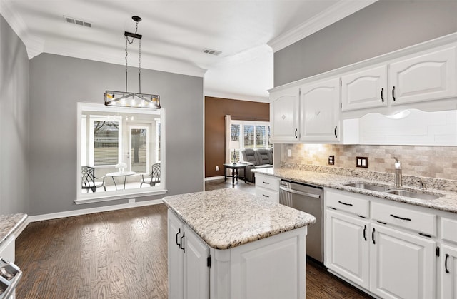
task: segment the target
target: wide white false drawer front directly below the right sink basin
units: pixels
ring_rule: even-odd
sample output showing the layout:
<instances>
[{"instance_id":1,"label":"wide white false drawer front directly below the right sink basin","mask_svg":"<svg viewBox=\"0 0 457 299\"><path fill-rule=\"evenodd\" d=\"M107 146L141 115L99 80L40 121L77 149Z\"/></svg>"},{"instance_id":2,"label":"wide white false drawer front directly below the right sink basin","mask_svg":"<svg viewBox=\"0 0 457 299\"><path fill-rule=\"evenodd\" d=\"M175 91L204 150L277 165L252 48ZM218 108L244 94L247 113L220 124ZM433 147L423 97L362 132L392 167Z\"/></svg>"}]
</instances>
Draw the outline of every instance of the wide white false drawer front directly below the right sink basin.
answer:
<instances>
[{"instance_id":1,"label":"wide white false drawer front directly below the right sink basin","mask_svg":"<svg viewBox=\"0 0 457 299\"><path fill-rule=\"evenodd\" d=\"M436 215L434 214L383 203L371 203L371 218L375 221L436 236Z\"/></svg>"}]
</instances>

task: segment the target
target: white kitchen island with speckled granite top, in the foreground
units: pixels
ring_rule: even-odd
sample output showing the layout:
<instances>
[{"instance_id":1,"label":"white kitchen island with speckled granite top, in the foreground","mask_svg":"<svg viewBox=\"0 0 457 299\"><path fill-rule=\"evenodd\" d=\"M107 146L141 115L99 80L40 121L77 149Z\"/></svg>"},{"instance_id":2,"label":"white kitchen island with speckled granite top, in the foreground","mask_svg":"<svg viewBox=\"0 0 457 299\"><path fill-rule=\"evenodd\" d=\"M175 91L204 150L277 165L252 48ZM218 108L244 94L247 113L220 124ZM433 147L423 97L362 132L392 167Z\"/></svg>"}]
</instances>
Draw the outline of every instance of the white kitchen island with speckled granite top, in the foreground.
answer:
<instances>
[{"instance_id":1,"label":"white kitchen island with speckled granite top, in the foreground","mask_svg":"<svg viewBox=\"0 0 457 299\"><path fill-rule=\"evenodd\" d=\"M164 198L169 298L305 298L314 216L236 189Z\"/></svg>"}]
</instances>

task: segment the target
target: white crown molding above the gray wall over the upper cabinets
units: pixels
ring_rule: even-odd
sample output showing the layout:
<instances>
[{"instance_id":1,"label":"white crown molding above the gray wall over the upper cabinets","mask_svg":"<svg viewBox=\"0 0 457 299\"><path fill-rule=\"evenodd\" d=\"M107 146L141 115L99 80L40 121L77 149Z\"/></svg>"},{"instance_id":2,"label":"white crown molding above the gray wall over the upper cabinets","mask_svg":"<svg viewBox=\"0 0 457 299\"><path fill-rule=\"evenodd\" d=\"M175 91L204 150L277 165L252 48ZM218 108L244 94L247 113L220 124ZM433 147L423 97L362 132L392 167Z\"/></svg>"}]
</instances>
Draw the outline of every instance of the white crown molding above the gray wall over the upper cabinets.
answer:
<instances>
[{"instance_id":1,"label":"white crown molding above the gray wall over the upper cabinets","mask_svg":"<svg viewBox=\"0 0 457 299\"><path fill-rule=\"evenodd\" d=\"M300 26L287 31L285 34L281 34L280 36L271 39L267 44L268 46L271 46L273 53L276 53L277 51L286 48L286 46L290 46L291 44L306 38L306 36L310 36L376 1L378 0L338 1L338 3L326 9L326 11L314 16Z\"/></svg>"}]
</instances>

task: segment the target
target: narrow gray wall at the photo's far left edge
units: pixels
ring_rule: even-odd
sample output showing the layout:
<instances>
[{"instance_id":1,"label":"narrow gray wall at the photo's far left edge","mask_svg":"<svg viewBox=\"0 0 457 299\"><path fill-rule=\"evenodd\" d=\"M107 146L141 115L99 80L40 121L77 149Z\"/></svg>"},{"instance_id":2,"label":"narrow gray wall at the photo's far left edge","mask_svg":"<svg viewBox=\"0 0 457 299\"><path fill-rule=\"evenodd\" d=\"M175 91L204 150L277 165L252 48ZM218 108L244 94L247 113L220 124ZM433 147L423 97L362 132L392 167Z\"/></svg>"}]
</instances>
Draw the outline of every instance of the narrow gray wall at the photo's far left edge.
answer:
<instances>
[{"instance_id":1,"label":"narrow gray wall at the photo's far left edge","mask_svg":"<svg viewBox=\"0 0 457 299\"><path fill-rule=\"evenodd\" d=\"M29 58L0 16L0 214L27 211L28 130Z\"/></svg>"}]
</instances>

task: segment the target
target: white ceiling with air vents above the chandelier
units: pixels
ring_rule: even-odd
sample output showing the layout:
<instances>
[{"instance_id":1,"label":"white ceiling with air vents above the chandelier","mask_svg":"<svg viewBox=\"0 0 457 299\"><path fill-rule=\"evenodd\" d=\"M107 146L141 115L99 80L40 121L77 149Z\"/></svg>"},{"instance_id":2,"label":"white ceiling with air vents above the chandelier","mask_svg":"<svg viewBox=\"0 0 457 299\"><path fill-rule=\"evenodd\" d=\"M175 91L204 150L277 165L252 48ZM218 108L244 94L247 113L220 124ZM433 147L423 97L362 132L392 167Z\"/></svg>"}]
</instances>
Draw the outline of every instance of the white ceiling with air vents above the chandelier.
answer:
<instances>
[{"instance_id":1,"label":"white ceiling with air vents above the chandelier","mask_svg":"<svg viewBox=\"0 0 457 299\"><path fill-rule=\"evenodd\" d=\"M0 0L0 14L30 59L46 52L115 64L125 64L124 31L134 32L131 16L141 16L142 68L204 76L205 96L268 101L273 51L374 1ZM129 66L138 66L138 41L129 46Z\"/></svg>"}]
</instances>

